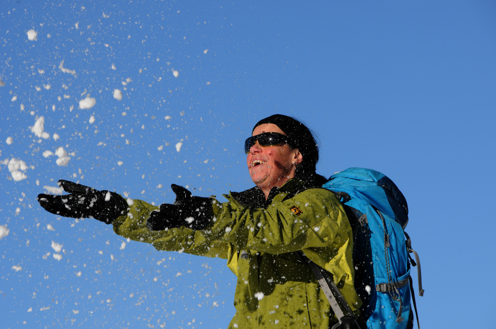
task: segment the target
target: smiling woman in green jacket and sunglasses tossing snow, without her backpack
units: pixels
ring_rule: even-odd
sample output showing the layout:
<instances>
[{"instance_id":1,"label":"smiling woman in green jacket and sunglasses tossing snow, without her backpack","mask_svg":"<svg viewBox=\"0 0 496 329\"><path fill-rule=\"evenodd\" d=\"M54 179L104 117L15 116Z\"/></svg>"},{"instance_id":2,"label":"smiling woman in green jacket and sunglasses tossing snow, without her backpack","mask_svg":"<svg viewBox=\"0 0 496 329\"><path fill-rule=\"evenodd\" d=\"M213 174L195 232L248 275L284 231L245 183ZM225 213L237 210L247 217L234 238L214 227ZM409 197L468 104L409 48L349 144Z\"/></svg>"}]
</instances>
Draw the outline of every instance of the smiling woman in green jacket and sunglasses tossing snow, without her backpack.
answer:
<instances>
[{"instance_id":1,"label":"smiling woman in green jacket and sunglasses tossing snow, without her backpack","mask_svg":"<svg viewBox=\"0 0 496 329\"><path fill-rule=\"evenodd\" d=\"M67 181L60 183L72 194L38 197L51 213L112 223L117 234L157 250L227 259L238 277L229 328L330 328L337 318L295 251L332 273L353 311L362 301L353 285L352 229L339 201L319 188L326 179L315 173L315 140L301 122L275 114L254 126L245 152L256 186L225 195L225 203L174 184L176 202L160 209Z\"/></svg>"}]
</instances>

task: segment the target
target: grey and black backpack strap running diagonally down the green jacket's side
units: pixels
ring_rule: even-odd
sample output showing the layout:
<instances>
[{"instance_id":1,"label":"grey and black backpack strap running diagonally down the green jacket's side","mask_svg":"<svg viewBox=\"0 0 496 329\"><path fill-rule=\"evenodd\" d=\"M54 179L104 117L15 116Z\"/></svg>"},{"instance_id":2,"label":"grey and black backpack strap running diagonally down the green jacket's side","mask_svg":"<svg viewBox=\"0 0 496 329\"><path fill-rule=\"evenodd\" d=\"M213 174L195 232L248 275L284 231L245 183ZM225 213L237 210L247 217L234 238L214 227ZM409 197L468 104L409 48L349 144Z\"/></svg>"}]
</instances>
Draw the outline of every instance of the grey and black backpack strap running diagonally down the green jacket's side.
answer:
<instances>
[{"instance_id":1,"label":"grey and black backpack strap running diagonally down the green jacket's side","mask_svg":"<svg viewBox=\"0 0 496 329\"><path fill-rule=\"evenodd\" d=\"M348 306L348 303L334 283L334 280L329 276L329 273L311 261L310 258L305 256L305 253L302 250L295 251L295 254L302 262L307 263L310 266L313 274L315 274L315 277L320 284L320 287L322 288L322 292L329 301L334 314L338 318L339 323L341 323L341 318L344 317L345 314L341 310L341 307L339 307L338 301L343 306L346 313L348 313L347 315L354 317L355 315L353 314L353 311L350 306ZM358 323L355 322L355 324L358 326ZM360 329L360 326L358 326L358 328Z\"/></svg>"}]
</instances>

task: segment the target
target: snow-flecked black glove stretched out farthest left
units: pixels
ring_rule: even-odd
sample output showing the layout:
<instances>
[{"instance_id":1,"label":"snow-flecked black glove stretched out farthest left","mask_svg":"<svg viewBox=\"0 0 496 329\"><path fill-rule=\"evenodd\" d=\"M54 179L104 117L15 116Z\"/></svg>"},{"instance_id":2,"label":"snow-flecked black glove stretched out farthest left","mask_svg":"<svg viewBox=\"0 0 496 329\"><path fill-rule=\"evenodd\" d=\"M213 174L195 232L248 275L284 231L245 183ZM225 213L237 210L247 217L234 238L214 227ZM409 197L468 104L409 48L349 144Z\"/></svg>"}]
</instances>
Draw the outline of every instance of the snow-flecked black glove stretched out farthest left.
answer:
<instances>
[{"instance_id":1,"label":"snow-flecked black glove stretched out farthest left","mask_svg":"<svg viewBox=\"0 0 496 329\"><path fill-rule=\"evenodd\" d=\"M38 194L38 202L46 211L72 218L94 218L110 224L127 212L127 202L119 194L97 191L92 187L68 180L57 182L65 192L71 194Z\"/></svg>"}]
</instances>

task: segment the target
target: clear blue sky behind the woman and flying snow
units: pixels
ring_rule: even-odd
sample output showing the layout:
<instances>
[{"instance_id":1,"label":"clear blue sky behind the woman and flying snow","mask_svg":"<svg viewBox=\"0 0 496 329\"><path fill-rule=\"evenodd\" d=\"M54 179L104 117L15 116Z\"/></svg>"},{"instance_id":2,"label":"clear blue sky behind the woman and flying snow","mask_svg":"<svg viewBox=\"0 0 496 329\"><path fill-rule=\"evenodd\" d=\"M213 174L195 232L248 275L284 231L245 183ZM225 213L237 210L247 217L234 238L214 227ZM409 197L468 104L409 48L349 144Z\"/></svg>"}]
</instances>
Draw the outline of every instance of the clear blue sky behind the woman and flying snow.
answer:
<instances>
[{"instance_id":1,"label":"clear blue sky behind the woman and flying snow","mask_svg":"<svg viewBox=\"0 0 496 329\"><path fill-rule=\"evenodd\" d=\"M494 2L105 2L0 5L2 327L226 328L224 260L122 249L35 197L72 179L156 204L171 183L222 198L252 186L243 142L274 113L317 132L319 173L373 168L406 196L422 328L494 327ZM43 156L59 147L65 166Z\"/></svg>"}]
</instances>

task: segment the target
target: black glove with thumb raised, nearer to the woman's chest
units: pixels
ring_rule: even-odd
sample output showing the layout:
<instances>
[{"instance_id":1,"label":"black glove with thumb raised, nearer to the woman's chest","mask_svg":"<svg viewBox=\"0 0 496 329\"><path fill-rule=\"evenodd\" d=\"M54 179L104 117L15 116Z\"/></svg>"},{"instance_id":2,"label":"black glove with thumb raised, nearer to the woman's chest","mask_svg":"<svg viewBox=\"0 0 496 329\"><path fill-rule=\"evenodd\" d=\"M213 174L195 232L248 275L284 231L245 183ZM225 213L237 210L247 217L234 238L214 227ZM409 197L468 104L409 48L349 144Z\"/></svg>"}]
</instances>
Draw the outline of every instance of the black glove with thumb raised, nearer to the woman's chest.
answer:
<instances>
[{"instance_id":1,"label":"black glove with thumb raised, nearer to the woman's chest","mask_svg":"<svg viewBox=\"0 0 496 329\"><path fill-rule=\"evenodd\" d=\"M183 186L171 185L176 193L176 201L171 205L164 203L160 210L154 210L146 222L152 231L186 226L194 230L205 229L213 218L212 199L191 196Z\"/></svg>"}]
</instances>

